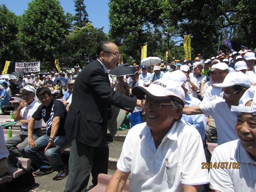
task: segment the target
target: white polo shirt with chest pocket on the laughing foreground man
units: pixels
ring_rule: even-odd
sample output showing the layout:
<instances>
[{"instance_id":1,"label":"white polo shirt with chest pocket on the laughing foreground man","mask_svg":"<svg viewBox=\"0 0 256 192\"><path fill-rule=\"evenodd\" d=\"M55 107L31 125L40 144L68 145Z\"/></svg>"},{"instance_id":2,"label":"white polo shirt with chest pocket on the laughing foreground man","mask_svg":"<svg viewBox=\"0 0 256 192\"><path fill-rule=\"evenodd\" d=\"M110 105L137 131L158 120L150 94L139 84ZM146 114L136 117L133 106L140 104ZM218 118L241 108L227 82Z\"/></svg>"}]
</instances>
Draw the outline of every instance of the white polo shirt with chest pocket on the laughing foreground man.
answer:
<instances>
[{"instance_id":1,"label":"white polo shirt with chest pocket on the laughing foreground man","mask_svg":"<svg viewBox=\"0 0 256 192\"><path fill-rule=\"evenodd\" d=\"M209 182L208 170L198 131L180 122L174 122L158 149L145 123L129 130L124 141L117 168L131 172L130 191L182 191L183 185Z\"/></svg>"}]
</instances>

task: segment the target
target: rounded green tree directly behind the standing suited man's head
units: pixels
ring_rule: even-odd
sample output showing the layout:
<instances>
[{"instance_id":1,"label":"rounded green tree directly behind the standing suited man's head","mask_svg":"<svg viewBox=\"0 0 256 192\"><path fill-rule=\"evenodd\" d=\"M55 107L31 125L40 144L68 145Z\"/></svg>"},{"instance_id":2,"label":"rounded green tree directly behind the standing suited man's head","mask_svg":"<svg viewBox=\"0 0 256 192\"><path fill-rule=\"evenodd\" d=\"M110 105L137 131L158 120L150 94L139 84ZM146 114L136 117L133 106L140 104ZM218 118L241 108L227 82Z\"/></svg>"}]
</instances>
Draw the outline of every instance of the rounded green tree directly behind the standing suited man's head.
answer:
<instances>
[{"instance_id":1,"label":"rounded green tree directly behind the standing suited man's head","mask_svg":"<svg viewBox=\"0 0 256 192\"><path fill-rule=\"evenodd\" d=\"M107 40L102 30L103 28L94 28L90 22L82 28L75 26L63 43L62 54L60 54L62 66L73 67L76 64L85 66L95 60L98 44Z\"/></svg>"}]
</instances>

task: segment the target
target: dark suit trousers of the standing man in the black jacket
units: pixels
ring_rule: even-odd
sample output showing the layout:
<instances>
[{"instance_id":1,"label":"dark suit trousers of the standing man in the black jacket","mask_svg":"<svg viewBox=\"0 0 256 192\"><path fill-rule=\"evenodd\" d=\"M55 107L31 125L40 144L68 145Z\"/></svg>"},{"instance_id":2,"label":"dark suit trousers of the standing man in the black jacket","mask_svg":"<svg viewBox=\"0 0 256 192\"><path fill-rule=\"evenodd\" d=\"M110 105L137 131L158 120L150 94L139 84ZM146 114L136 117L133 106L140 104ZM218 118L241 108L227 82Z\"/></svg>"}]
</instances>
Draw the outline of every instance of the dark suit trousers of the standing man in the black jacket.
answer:
<instances>
[{"instance_id":1,"label":"dark suit trousers of the standing man in the black jacket","mask_svg":"<svg viewBox=\"0 0 256 192\"><path fill-rule=\"evenodd\" d=\"M108 174L108 146L93 147L68 135L70 156L68 179L64 192L85 192L92 172L92 183L97 185L98 174Z\"/></svg>"}]
</instances>

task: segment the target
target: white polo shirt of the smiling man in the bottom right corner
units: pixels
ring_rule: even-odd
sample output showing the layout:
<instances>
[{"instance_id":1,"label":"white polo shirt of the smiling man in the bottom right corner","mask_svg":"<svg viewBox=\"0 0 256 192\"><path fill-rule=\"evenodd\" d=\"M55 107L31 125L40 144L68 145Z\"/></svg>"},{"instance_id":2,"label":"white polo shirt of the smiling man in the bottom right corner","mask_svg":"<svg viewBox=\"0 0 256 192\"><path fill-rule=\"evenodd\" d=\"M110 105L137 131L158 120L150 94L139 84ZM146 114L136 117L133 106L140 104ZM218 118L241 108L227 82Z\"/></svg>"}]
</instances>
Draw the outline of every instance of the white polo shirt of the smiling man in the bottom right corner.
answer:
<instances>
[{"instance_id":1,"label":"white polo shirt of the smiling man in the bottom right corner","mask_svg":"<svg viewBox=\"0 0 256 192\"><path fill-rule=\"evenodd\" d=\"M222 192L255 192L256 191L256 162L249 153L242 148L240 140L230 141L217 146L211 159L218 165L219 162L228 162L224 169L210 170L210 188ZM234 168L229 168L230 163ZM240 169L238 169L238 167Z\"/></svg>"}]
</instances>

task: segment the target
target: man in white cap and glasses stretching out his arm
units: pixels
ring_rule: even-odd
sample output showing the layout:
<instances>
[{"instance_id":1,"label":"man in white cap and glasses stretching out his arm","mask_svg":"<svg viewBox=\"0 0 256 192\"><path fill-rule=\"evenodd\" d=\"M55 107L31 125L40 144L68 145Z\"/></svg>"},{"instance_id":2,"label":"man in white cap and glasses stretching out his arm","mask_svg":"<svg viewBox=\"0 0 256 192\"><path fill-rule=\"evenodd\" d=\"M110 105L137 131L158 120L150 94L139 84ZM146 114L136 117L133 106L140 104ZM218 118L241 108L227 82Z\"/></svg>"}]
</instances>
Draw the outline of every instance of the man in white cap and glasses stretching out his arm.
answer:
<instances>
[{"instance_id":1,"label":"man in white cap and glasses stretching out his arm","mask_svg":"<svg viewBox=\"0 0 256 192\"><path fill-rule=\"evenodd\" d=\"M211 115L216 124L218 132L218 144L223 144L238 138L234 131L236 113L230 111L232 105L238 105L239 99L244 92L250 88L250 78L242 72L229 73L223 83L212 86L222 88L223 98L217 98L209 102L184 108L183 112L187 115L204 114Z\"/></svg>"}]
</instances>

